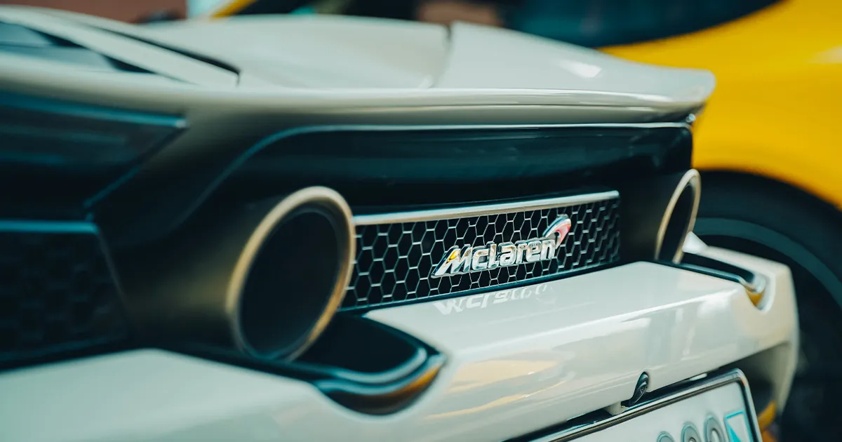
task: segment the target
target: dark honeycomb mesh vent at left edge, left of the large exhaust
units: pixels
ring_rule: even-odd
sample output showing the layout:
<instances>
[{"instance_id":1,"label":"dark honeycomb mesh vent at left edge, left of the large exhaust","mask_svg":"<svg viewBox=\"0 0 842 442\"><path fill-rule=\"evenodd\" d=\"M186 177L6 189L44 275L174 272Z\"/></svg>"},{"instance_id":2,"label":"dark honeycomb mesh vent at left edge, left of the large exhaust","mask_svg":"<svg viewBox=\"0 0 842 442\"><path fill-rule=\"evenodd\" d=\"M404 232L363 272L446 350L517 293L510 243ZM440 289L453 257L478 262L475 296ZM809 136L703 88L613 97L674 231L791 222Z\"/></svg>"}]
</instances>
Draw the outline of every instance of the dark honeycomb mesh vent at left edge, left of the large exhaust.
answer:
<instances>
[{"instance_id":1,"label":"dark honeycomb mesh vent at left edge, left of the large exhaust","mask_svg":"<svg viewBox=\"0 0 842 442\"><path fill-rule=\"evenodd\" d=\"M125 333L93 232L0 232L0 361L112 343Z\"/></svg>"}]
</instances>

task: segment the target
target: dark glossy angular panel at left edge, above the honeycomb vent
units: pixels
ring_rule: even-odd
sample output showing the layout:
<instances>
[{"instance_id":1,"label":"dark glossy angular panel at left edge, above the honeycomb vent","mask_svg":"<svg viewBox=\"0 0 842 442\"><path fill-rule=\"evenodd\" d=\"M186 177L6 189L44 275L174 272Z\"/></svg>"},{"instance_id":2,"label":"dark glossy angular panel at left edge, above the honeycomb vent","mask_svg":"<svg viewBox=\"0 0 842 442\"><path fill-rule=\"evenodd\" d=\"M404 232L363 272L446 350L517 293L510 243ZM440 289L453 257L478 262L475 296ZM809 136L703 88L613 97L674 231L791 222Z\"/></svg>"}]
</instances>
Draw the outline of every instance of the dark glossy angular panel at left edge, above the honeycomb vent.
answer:
<instances>
[{"instance_id":1,"label":"dark glossy angular panel at left edge, above the honeycomb vent","mask_svg":"<svg viewBox=\"0 0 842 442\"><path fill-rule=\"evenodd\" d=\"M0 216L80 214L186 126L176 115L0 91Z\"/></svg>"}]
</instances>

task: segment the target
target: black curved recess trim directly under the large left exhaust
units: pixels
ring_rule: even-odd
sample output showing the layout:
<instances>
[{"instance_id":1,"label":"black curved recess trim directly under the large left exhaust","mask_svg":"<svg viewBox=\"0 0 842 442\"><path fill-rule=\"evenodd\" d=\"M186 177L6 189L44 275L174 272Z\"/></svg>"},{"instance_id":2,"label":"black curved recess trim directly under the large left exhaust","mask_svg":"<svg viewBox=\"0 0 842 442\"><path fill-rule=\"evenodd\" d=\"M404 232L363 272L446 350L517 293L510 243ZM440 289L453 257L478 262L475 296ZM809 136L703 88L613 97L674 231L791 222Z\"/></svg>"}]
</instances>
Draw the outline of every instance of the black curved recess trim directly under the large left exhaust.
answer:
<instances>
[{"instance_id":1,"label":"black curved recess trim directly under the large left exhaust","mask_svg":"<svg viewBox=\"0 0 842 442\"><path fill-rule=\"evenodd\" d=\"M434 381L445 356L407 333L365 317L338 314L311 349L285 362L195 344L167 349L203 359L308 381L359 413L389 414L407 407Z\"/></svg>"}]
</instances>

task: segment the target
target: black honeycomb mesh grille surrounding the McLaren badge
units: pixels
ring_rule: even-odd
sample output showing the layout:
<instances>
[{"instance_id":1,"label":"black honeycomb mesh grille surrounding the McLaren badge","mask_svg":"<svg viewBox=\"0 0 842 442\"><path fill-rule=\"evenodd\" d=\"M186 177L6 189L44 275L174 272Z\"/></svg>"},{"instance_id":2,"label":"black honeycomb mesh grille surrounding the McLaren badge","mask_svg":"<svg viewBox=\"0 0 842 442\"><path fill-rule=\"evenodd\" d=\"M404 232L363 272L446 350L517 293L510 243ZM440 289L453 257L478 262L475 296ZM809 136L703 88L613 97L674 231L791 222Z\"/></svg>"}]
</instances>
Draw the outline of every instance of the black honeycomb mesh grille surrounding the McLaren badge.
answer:
<instances>
[{"instance_id":1,"label":"black honeycomb mesh grille surrounding the McLaren badge","mask_svg":"<svg viewBox=\"0 0 842 442\"><path fill-rule=\"evenodd\" d=\"M344 310L390 306L529 280L561 277L620 258L618 198L540 210L356 227L354 272ZM557 259L430 278L453 246L484 246L540 237L559 216L572 228Z\"/></svg>"}]
</instances>

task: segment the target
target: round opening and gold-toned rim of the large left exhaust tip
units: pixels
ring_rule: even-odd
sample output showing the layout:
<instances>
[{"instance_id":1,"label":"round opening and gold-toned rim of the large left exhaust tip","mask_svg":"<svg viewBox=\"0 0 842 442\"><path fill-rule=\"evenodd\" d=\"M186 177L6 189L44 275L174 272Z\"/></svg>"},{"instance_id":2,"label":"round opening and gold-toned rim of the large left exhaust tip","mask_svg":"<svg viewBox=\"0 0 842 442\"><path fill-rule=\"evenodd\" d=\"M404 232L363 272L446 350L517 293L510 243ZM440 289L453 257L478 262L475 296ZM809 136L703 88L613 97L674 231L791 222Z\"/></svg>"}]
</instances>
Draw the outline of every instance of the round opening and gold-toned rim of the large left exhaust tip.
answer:
<instances>
[{"instance_id":1,"label":"round opening and gold-toned rim of the large left exhaust tip","mask_svg":"<svg viewBox=\"0 0 842 442\"><path fill-rule=\"evenodd\" d=\"M344 199L307 188L280 200L248 238L228 286L237 347L293 359L328 326L348 287L354 226Z\"/></svg>"}]
</instances>

